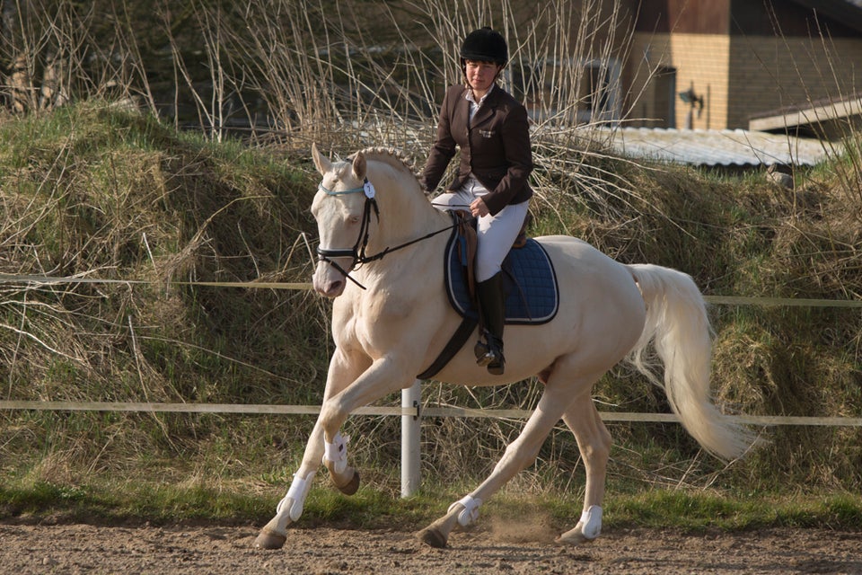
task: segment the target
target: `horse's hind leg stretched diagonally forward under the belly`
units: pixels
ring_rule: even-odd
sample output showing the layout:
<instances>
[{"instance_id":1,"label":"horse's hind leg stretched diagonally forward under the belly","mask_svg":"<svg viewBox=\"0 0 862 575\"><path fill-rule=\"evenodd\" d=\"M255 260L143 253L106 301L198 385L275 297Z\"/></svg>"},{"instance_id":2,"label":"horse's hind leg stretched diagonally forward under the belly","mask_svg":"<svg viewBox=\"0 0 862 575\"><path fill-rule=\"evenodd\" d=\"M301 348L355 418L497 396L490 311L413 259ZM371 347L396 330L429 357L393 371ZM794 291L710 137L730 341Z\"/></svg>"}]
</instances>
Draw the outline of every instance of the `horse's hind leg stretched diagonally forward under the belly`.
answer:
<instances>
[{"instance_id":1,"label":"horse's hind leg stretched diagonally forward under the belly","mask_svg":"<svg viewBox=\"0 0 862 575\"><path fill-rule=\"evenodd\" d=\"M562 378L558 373L555 371L550 376L536 411L533 411L527 420L521 435L506 447L503 457L488 479L470 495L453 503L444 517L420 531L419 539L432 547L445 547L456 525L468 526L475 521L479 517L479 505L499 491L516 473L535 461L542 442L562 417L567 405L572 401L590 401L589 391L597 377L579 378L575 385L571 385L570 380L560 381ZM573 400L573 396L577 399Z\"/></svg>"}]
</instances>

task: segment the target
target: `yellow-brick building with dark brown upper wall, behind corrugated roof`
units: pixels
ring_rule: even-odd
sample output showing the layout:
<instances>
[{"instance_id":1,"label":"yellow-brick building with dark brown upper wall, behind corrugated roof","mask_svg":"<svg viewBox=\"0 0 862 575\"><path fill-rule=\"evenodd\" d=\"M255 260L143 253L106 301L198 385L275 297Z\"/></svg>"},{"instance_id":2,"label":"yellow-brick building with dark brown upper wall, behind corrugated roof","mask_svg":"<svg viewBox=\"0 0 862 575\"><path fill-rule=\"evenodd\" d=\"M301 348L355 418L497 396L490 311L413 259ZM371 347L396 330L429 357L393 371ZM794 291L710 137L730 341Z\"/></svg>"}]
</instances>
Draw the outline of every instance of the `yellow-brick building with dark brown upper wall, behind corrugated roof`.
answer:
<instances>
[{"instance_id":1,"label":"yellow-brick building with dark brown upper wall, behind corrugated roof","mask_svg":"<svg viewBox=\"0 0 862 575\"><path fill-rule=\"evenodd\" d=\"M643 0L621 79L628 125L711 129L858 99L859 82L859 0Z\"/></svg>"}]
</instances>

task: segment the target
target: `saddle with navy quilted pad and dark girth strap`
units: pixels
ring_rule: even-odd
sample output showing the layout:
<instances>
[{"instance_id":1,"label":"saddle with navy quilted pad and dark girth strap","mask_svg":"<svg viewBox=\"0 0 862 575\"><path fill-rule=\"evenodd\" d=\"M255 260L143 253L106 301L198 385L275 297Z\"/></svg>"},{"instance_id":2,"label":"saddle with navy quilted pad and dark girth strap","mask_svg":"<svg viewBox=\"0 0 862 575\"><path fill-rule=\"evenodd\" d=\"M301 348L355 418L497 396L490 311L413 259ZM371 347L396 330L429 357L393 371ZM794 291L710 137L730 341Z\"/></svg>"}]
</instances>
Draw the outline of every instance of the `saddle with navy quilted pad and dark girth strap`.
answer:
<instances>
[{"instance_id":1,"label":"saddle with navy quilted pad and dark girth strap","mask_svg":"<svg viewBox=\"0 0 862 575\"><path fill-rule=\"evenodd\" d=\"M442 369L462 349L479 325L479 305L473 273L477 237L468 212L450 212L453 233L444 252L446 294L462 323L444 346L443 351L418 379L428 379ZM521 234L503 261L506 290L506 323L548 323L559 309L557 275L547 252L532 238L527 238L524 222Z\"/></svg>"}]
</instances>

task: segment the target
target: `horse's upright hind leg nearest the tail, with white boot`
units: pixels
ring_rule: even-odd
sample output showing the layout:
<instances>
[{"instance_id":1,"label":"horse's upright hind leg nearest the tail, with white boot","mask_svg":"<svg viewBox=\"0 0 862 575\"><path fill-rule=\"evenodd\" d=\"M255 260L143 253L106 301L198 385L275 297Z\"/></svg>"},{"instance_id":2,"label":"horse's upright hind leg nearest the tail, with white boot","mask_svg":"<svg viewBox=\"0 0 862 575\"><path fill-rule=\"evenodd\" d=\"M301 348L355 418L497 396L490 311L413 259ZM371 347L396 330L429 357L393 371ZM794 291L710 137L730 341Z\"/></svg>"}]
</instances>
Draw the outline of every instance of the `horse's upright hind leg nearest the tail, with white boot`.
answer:
<instances>
[{"instance_id":1,"label":"horse's upright hind leg nearest the tail, with white boot","mask_svg":"<svg viewBox=\"0 0 862 575\"><path fill-rule=\"evenodd\" d=\"M576 545L592 541L602 532L602 501L611 456L611 434L589 397L571 405L563 414L563 420L575 434L584 459L586 492L580 520L575 528L560 535L557 542Z\"/></svg>"}]
</instances>

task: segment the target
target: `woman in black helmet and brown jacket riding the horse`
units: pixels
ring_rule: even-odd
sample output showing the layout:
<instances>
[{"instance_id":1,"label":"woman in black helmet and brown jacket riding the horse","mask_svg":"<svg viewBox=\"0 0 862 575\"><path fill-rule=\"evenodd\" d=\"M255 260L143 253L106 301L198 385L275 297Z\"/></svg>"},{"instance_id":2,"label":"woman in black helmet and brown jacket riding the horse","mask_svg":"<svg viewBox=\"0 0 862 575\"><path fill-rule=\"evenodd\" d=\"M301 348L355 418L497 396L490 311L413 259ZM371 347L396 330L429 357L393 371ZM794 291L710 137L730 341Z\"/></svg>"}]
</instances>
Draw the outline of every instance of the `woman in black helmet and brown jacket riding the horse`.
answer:
<instances>
[{"instance_id":1,"label":"woman in black helmet and brown jacket riding the horse","mask_svg":"<svg viewBox=\"0 0 862 575\"><path fill-rule=\"evenodd\" d=\"M476 281L485 341L477 345L476 356L493 375L502 374L506 364L501 264L521 231L532 197L527 182L532 172L527 111L497 85L507 59L506 40L497 31L480 28L464 39L465 84L445 93L435 143L421 177L427 192L435 190L456 146L461 148L458 173L434 203L442 209L469 206L478 220Z\"/></svg>"}]
</instances>

